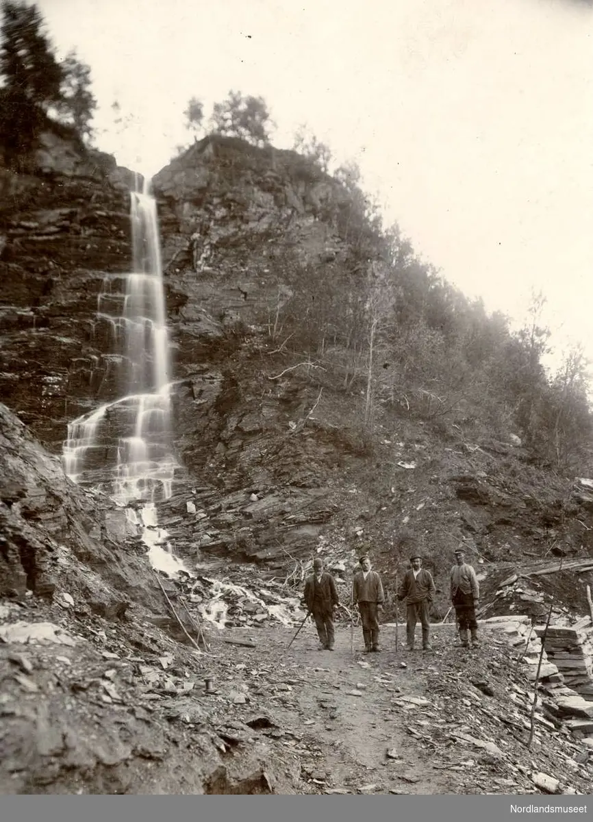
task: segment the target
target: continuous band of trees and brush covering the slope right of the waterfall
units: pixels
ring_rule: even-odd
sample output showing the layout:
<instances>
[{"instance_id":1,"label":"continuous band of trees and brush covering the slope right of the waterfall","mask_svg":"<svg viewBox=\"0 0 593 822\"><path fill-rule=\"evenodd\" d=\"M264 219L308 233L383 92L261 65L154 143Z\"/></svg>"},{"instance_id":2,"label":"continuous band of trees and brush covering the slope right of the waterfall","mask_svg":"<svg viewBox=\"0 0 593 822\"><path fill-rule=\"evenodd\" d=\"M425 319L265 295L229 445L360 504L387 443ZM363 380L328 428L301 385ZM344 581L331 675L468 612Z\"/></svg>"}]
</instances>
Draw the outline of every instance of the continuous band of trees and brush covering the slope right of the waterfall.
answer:
<instances>
[{"instance_id":1,"label":"continuous band of trees and brush covering the slope right of the waterfall","mask_svg":"<svg viewBox=\"0 0 593 822\"><path fill-rule=\"evenodd\" d=\"M255 265L249 242L268 243L270 270L286 287L278 289L274 310L260 317L270 350L283 355L288 370L306 366L296 367L294 376L306 373L318 388L361 398L355 404L370 448L380 433L376 426L395 414L431 423L444 436L453 426L503 440L513 433L534 464L586 472L588 363L581 349L573 349L556 372L547 372L545 297L534 293L522 328L513 332L506 316L490 315L483 302L465 297L423 261L397 224L384 226L356 164L330 176L323 170L327 162L315 150L303 156L212 135L171 166L213 164L215 191L209 189L202 207L238 191L241 179L256 179L278 203L285 187L300 191L306 219L323 227L324 250L308 258L301 253L301 229L293 230L290 220L278 218L265 238L237 229L241 265Z\"/></svg>"}]
</instances>

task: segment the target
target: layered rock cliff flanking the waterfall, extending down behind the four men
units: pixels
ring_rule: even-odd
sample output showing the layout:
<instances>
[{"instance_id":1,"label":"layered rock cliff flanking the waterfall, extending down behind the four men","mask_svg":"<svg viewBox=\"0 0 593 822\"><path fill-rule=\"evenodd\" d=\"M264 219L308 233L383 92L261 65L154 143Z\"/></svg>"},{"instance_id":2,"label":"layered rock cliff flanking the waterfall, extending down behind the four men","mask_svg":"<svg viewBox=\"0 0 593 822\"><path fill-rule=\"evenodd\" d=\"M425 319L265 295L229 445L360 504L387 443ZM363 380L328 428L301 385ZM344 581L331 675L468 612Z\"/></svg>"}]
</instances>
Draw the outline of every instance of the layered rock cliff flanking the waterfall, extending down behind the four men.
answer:
<instances>
[{"instance_id":1,"label":"layered rock cliff flanking the waterfall, extending down behind the four men","mask_svg":"<svg viewBox=\"0 0 593 822\"><path fill-rule=\"evenodd\" d=\"M2 173L0 391L54 455L68 422L117 398L97 298L131 265L131 176L104 159ZM208 138L154 189L182 465L159 522L177 550L284 568L370 543L388 568L408 530L439 573L461 539L486 561L591 550L587 489L532 469L512 436L394 409L371 453L360 386L310 359L306 330L287 356L283 318L307 328L307 278L338 289L356 267L337 182L292 152Z\"/></svg>"}]
</instances>

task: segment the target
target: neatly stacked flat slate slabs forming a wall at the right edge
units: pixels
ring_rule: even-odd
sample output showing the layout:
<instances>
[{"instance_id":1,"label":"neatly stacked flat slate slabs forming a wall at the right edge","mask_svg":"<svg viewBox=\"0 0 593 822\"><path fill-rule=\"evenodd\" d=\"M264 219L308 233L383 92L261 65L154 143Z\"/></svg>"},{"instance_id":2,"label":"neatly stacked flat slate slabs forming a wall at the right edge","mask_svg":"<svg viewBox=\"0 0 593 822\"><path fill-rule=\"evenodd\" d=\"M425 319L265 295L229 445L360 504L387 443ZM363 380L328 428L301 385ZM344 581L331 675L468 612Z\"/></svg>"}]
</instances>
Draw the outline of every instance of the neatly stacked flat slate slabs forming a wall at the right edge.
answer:
<instances>
[{"instance_id":1,"label":"neatly stacked flat slate slabs forming a wall at the right edge","mask_svg":"<svg viewBox=\"0 0 593 822\"><path fill-rule=\"evenodd\" d=\"M538 626L536 631L544 635L543 627ZM586 700L593 701L593 627L585 628L581 623L571 628L549 626L545 650L566 684Z\"/></svg>"}]
</instances>

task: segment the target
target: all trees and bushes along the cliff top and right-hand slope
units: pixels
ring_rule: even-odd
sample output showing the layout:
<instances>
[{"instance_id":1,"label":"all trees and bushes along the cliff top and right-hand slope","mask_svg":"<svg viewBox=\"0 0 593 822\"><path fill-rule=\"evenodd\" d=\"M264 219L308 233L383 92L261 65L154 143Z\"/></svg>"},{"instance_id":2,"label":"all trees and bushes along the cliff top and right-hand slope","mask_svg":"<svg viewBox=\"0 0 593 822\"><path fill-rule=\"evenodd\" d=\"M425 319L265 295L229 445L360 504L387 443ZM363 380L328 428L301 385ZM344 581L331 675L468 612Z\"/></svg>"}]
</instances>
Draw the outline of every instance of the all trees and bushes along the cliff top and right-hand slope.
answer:
<instances>
[{"instance_id":1,"label":"all trees and bushes along the cliff top and right-hand slope","mask_svg":"<svg viewBox=\"0 0 593 822\"><path fill-rule=\"evenodd\" d=\"M48 123L79 141L88 136L95 101L89 67L75 53L57 61L34 5L3 0L2 15L0 147L4 164L23 169ZM205 130L200 99L189 101L185 116L195 136ZM264 99L235 91L209 119L212 134L238 137L263 159L271 126ZM278 298L269 322L274 345L323 364L315 372L321 383L364 397L370 445L384 410L405 409L444 430L471 423L494 435L517 432L537 464L582 470L591 435L587 363L573 350L557 372L545 371L545 298L534 296L525 325L512 333L505 316L489 316L422 261L397 225L383 225L356 164L329 177L331 151L305 127L295 149L306 186L333 187L329 198L312 194L312 208L341 249L314 266L299 259L294 242L278 238L276 263L292 297Z\"/></svg>"}]
</instances>

